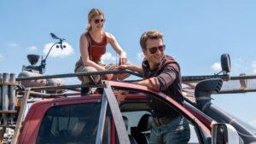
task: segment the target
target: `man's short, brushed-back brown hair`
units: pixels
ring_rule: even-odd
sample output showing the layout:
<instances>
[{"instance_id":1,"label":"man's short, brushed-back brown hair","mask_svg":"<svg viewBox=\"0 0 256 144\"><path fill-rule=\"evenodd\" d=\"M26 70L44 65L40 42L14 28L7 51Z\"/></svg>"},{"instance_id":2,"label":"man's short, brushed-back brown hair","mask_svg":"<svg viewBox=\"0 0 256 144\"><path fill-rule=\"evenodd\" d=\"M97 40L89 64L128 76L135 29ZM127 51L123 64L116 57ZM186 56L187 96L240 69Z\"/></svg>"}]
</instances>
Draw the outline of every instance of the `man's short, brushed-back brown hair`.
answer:
<instances>
[{"instance_id":1,"label":"man's short, brushed-back brown hair","mask_svg":"<svg viewBox=\"0 0 256 144\"><path fill-rule=\"evenodd\" d=\"M163 34L156 30L144 32L140 39L140 44L141 44L142 49L147 48L146 43L147 43L148 39L162 39L162 41L163 41Z\"/></svg>"}]
</instances>

